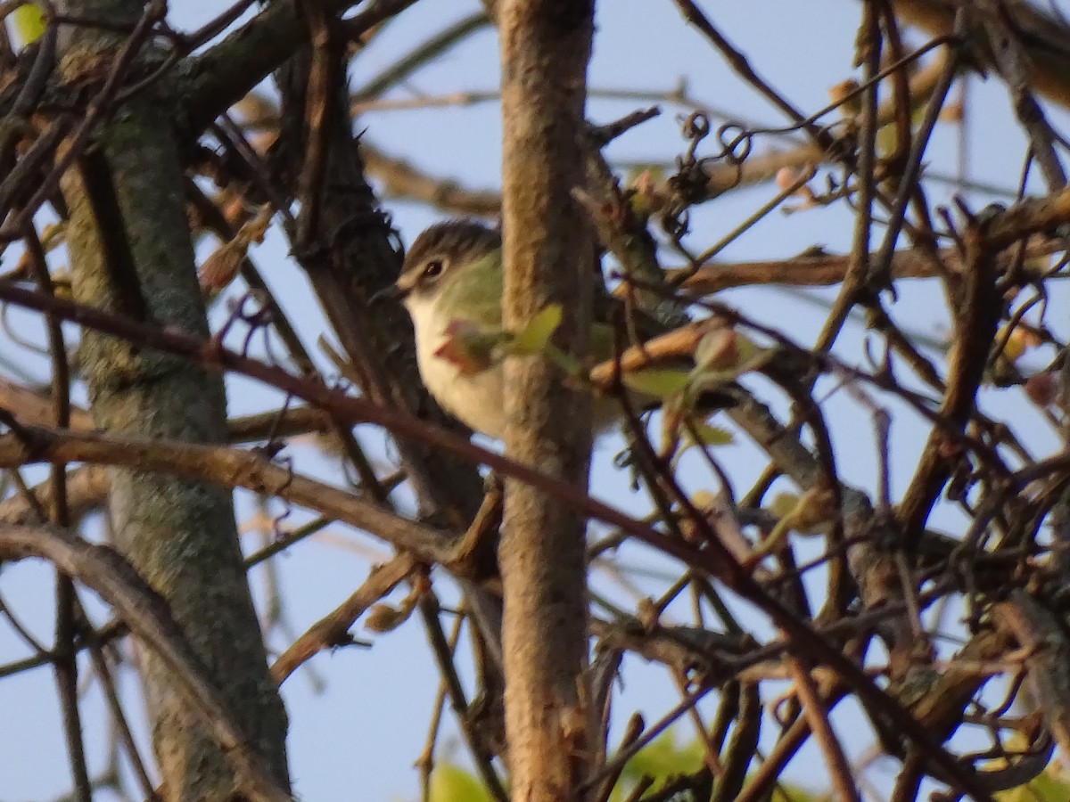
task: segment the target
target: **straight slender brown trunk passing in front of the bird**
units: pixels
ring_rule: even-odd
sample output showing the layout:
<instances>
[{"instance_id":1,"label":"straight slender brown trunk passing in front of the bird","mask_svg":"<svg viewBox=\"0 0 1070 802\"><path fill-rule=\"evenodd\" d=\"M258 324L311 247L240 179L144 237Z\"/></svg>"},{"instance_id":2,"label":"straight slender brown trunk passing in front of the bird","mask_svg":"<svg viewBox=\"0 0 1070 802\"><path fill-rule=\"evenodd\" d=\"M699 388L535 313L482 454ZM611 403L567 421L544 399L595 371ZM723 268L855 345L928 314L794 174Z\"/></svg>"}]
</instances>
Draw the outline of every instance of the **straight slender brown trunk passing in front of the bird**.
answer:
<instances>
[{"instance_id":1,"label":"straight slender brown trunk passing in front of the bird","mask_svg":"<svg viewBox=\"0 0 1070 802\"><path fill-rule=\"evenodd\" d=\"M507 328L548 304L565 315L555 342L583 354L591 327L591 238L570 191L582 182L590 0L500 0L503 234ZM510 457L586 483L591 402L549 364L506 366ZM591 756L584 522L530 487L506 491L500 550L505 590L506 734L514 799L571 800Z\"/></svg>"}]
</instances>

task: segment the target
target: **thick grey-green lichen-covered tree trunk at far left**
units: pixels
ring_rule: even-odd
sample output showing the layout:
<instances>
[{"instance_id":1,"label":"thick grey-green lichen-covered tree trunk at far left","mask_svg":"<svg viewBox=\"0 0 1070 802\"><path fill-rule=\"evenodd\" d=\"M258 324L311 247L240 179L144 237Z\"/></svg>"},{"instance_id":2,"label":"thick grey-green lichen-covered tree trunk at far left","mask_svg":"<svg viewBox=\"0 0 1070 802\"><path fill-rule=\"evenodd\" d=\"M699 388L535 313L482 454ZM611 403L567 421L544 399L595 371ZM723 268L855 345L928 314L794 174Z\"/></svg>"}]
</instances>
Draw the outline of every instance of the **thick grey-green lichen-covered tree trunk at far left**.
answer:
<instances>
[{"instance_id":1,"label":"thick grey-green lichen-covered tree trunk at far left","mask_svg":"<svg viewBox=\"0 0 1070 802\"><path fill-rule=\"evenodd\" d=\"M71 0L63 11L129 25L140 5ZM122 41L93 27L74 29L63 77L100 80ZM64 176L74 293L85 304L208 336L179 151L167 124L172 109L162 90L124 103ZM101 429L143 438L224 441L226 399L218 375L88 330L80 357ZM230 494L136 471L111 471L110 487L116 545L167 600L235 721L289 787L286 713L268 673ZM230 799L233 773L172 691L165 667L141 653L140 672L165 799Z\"/></svg>"}]
</instances>

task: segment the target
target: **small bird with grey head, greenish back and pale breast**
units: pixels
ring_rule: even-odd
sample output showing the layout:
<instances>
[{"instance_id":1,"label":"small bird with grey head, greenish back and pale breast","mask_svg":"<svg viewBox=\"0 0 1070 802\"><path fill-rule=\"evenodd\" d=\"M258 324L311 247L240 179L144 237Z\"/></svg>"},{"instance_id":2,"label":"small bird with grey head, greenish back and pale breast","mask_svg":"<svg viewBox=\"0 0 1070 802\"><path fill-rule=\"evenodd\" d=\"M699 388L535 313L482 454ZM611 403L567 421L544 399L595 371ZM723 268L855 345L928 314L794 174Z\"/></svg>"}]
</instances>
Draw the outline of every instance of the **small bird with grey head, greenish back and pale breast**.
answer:
<instances>
[{"instance_id":1,"label":"small bird with grey head, greenish back and pale breast","mask_svg":"<svg viewBox=\"0 0 1070 802\"><path fill-rule=\"evenodd\" d=\"M592 280L595 278L592 271ZM391 288L391 294L400 297L412 318L424 385L447 413L498 439L505 436L507 423L501 360L465 370L463 358L452 357L456 357L457 341L467 336L502 333L503 288L501 232L473 220L449 220L424 231L406 255L401 274ZM613 329L608 322L612 303L603 292L600 298L596 293L591 346L599 360L612 353ZM643 329L640 337L644 340L663 328L642 314L635 314L632 323ZM641 406L653 400L636 396ZM617 419L620 408L615 399L596 399L596 432Z\"/></svg>"}]
</instances>

